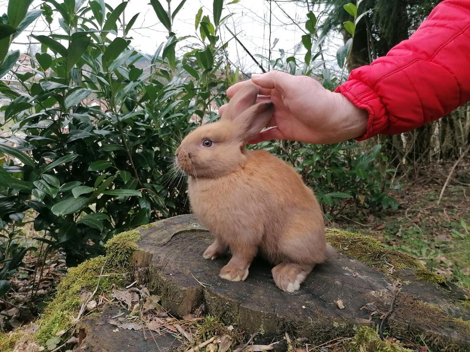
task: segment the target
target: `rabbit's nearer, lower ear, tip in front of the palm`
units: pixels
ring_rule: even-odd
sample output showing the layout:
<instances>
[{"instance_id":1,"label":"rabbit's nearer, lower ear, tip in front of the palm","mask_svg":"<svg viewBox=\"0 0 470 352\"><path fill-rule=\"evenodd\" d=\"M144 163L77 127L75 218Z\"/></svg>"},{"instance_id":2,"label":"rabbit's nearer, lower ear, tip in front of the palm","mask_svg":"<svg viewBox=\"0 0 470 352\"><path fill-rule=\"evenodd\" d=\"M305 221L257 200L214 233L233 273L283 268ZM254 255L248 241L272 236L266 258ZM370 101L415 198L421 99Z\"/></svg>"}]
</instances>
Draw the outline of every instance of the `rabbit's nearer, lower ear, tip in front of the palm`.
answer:
<instances>
[{"instance_id":1,"label":"rabbit's nearer, lower ear, tip in front of the palm","mask_svg":"<svg viewBox=\"0 0 470 352\"><path fill-rule=\"evenodd\" d=\"M272 102L258 103L243 111L234 120L239 140L247 142L261 132L273 116L273 112L274 104Z\"/></svg>"}]
</instances>

